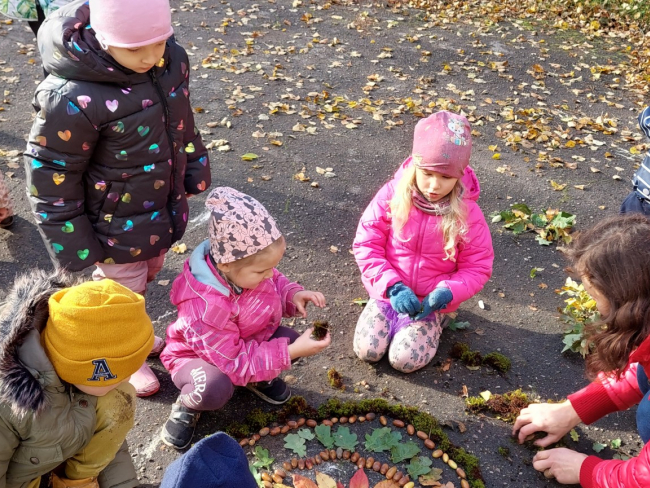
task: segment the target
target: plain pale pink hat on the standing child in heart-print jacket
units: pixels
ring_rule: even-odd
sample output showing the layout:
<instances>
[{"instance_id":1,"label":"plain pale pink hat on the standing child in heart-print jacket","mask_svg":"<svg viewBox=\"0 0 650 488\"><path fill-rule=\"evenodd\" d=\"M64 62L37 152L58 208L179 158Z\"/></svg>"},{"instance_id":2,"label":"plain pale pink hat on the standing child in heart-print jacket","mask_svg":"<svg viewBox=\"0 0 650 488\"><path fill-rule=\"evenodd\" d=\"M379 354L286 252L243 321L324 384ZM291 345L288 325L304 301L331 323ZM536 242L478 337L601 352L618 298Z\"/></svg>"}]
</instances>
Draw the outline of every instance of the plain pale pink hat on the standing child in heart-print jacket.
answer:
<instances>
[{"instance_id":1,"label":"plain pale pink hat on the standing child in heart-print jacket","mask_svg":"<svg viewBox=\"0 0 650 488\"><path fill-rule=\"evenodd\" d=\"M90 0L90 25L104 46L134 48L174 33L169 0Z\"/></svg>"}]
</instances>

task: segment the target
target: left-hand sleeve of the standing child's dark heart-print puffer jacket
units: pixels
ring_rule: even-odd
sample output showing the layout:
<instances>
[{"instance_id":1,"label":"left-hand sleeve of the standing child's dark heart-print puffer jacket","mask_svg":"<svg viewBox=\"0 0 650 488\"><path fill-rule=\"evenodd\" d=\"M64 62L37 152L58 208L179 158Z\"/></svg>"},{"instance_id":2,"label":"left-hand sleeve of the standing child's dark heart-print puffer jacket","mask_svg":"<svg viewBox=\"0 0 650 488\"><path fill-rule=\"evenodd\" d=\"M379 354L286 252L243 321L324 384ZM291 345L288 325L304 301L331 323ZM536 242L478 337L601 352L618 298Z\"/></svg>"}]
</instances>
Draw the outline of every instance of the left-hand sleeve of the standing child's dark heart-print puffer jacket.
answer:
<instances>
[{"instance_id":1,"label":"left-hand sleeve of the standing child's dark heart-print puffer jacket","mask_svg":"<svg viewBox=\"0 0 650 488\"><path fill-rule=\"evenodd\" d=\"M84 213L83 176L98 131L76 100L57 90L37 91L34 108L24 158L29 202L52 258L79 271L104 254Z\"/></svg>"}]
</instances>

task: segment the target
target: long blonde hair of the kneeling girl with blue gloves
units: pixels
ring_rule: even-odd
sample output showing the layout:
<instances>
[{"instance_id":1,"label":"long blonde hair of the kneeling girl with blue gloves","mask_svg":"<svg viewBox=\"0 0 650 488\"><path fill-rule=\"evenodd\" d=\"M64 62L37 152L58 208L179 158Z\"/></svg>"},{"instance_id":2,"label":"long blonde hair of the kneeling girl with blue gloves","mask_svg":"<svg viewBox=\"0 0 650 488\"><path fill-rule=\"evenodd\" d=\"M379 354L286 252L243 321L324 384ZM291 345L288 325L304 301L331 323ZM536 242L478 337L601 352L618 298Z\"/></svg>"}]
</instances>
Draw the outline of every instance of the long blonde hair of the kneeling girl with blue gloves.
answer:
<instances>
[{"instance_id":1,"label":"long blonde hair of the kneeling girl with blue gloves","mask_svg":"<svg viewBox=\"0 0 650 488\"><path fill-rule=\"evenodd\" d=\"M389 202L393 230L398 235L408 221L413 206L413 192L418 191L415 181L415 165L404 169L404 173L395 187L395 194ZM440 227L444 241L445 259L456 261L456 244L467 234L467 206L462 195L465 185L459 179L449 193L449 212L444 214Z\"/></svg>"}]
</instances>

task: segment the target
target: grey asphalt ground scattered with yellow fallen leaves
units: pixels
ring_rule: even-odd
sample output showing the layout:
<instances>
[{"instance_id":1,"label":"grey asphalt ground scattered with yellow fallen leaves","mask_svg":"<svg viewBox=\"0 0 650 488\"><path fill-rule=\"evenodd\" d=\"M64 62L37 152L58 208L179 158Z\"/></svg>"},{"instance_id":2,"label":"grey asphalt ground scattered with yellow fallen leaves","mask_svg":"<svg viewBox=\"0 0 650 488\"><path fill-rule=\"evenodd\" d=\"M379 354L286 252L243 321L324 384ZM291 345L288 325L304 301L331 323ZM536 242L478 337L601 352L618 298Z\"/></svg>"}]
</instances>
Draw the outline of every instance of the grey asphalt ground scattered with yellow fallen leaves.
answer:
<instances>
[{"instance_id":1,"label":"grey asphalt ground scattered with yellow fallen leaves","mask_svg":"<svg viewBox=\"0 0 650 488\"><path fill-rule=\"evenodd\" d=\"M333 327L329 349L287 372L294 395L312 405L332 397L383 397L417 406L448 423L451 439L480 459L486 486L553 485L530 465L533 452L513 443L508 424L465 412L462 392L464 386L469 395L522 388L560 400L586 384L582 359L560 353L557 309L563 303L555 290L566 274L556 245L540 246L533 234L514 236L502 223L491 224L492 279L459 310L459 320L470 326L445 331L433 362L411 375L385 360L367 365L354 356L361 308L353 300L367 295L350 249L363 209L408 156L418 118L443 108L462 110L475 131L471 164L488 221L514 203L575 214L577 229L616 213L645 149L636 116L646 90L632 76L634 46L624 36L587 35L535 18L494 22L480 12L450 20L383 4L172 3L177 39L192 61L196 121L213 146L213 185L264 203L287 238L280 270L328 301L324 310L310 309L308 322L287 321L298 330L314 319ZM0 61L0 170L17 214L15 226L0 231L0 288L6 290L16 274L50 263L28 210L19 156L42 76L26 25L0 25ZM220 150L225 146L229 150ZM243 160L247 153L257 158ZM175 316L171 281L207 237L203 203L202 196L191 200L182 240L187 251L168 254L147 293L161 335ZM458 361L445 370L457 341L503 353L511 371L473 371ZM177 391L160 363L150 363L162 388L138 401L129 442L143 486L158 486L179 455L159 441ZM342 373L344 391L329 386L331 367ZM368 389L358 387L361 381ZM196 439L254 408L272 407L237 390L222 411L203 415ZM467 430L454 428L457 422ZM594 442L614 439L628 454L641 446L634 412L578 433L579 442L568 444L585 453L594 453ZM609 448L600 453L614 454Z\"/></svg>"}]
</instances>

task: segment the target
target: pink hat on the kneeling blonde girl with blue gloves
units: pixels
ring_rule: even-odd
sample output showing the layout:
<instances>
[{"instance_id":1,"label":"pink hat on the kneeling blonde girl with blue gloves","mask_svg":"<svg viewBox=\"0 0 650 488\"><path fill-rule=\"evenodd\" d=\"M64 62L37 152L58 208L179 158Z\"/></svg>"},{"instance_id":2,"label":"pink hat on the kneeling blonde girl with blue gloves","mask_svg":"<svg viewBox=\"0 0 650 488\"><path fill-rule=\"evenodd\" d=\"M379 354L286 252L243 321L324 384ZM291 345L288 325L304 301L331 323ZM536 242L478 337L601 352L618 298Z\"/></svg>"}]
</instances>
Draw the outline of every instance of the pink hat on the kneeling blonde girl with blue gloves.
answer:
<instances>
[{"instance_id":1,"label":"pink hat on the kneeling blonde girl with blue gloves","mask_svg":"<svg viewBox=\"0 0 650 488\"><path fill-rule=\"evenodd\" d=\"M429 115L415 126L411 154L418 168L462 178L472 154L469 122L446 110Z\"/></svg>"}]
</instances>

